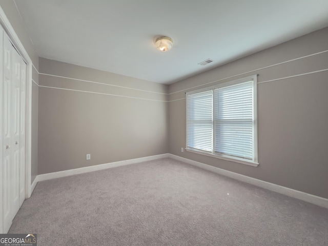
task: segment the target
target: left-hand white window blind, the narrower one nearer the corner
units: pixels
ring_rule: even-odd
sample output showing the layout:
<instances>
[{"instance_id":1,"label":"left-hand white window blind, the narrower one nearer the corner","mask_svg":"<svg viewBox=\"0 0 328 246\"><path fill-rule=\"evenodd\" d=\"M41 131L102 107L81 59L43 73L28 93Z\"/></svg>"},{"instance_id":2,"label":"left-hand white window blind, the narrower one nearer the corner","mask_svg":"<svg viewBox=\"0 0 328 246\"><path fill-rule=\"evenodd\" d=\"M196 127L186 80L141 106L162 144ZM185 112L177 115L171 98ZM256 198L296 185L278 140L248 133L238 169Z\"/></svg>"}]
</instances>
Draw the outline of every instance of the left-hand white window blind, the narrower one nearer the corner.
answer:
<instances>
[{"instance_id":1,"label":"left-hand white window blind, the narrower one nearer the corner","mask_svg":"<svg viewBox=\"0 0 328 246\"><path fill-rule=\"evenodd\" d=\"M187 96L187 146L192 149L213 150L213 92Z\"/></svg>"}]
</instances>

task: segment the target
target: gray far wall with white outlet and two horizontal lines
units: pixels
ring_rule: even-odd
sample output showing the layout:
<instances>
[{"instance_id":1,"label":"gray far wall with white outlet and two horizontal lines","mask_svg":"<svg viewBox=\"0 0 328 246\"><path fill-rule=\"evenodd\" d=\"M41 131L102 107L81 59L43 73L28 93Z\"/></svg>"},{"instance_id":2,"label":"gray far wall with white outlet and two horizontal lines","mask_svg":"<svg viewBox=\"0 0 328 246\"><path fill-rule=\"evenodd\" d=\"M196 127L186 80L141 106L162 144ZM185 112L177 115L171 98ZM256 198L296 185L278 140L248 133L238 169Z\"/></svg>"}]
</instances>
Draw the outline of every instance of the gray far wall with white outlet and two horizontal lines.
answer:
<instances>
[{"instance_id":1,"label":"gray far wall with white outlet and two horizontal lines","mask_svg":"<svg viewBox=\"0 0 328 246\"><path fill-rule=\"evenodd\" d=\"M45 58L39 72L38 174L168 153L168 86Z\"/></svg>"}]
</instances>

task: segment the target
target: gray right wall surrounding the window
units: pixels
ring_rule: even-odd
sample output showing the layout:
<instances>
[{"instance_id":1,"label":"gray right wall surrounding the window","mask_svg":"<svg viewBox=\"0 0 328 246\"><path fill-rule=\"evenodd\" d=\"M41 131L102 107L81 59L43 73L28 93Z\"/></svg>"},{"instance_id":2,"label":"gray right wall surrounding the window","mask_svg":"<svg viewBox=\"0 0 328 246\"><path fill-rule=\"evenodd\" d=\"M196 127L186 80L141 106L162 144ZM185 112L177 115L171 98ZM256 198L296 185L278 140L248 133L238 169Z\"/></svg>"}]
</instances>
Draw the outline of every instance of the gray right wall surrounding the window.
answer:
<instances>
[{"instance_id":1,"label":"gray right wall surrounding the window","mask_svg":"<svg viewBox=\"0 0 328 246\"><path fill-rule=\"evenodd\" d=\"M327 40L325 28L170 85L170 153L328 198L328 71L316 72L328 69ZM307 55L311 56L283 63ZM278 63L283 64L264 68ZM181 153L186 147L185 92L253 74L259 74L260 165Z\"/></svg>"}]
</instances>

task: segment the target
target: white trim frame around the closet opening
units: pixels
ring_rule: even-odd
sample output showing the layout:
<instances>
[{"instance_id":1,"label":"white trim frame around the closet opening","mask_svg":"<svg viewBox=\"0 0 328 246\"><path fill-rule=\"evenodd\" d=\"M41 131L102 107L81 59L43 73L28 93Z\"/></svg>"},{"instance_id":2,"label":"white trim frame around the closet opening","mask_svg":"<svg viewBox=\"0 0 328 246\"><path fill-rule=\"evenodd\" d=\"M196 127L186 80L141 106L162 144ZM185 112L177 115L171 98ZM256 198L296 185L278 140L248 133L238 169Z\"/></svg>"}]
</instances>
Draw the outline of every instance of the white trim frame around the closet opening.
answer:
<instances>
[{"instance_id":1,"label":"white trim frame around the closet opening","mask_svg":"<svg viewBox=\"0 0 328 246\"><path fill-rule=\"evenodd\" d=\"M25 118L25 198L32 194L31 190L31 146L32 146L32 60L20 42L14 28L0 6L0 24L10 38L12 44L26 62L26 118ZM35 67L34 67L35 68ZM35 68L36 70L36 68ZM37 71L37 70L36 70ZM1 96L2 97L2 96ZM2 180L2 177L1 177Z\"/></svg>"}]
</instances>

